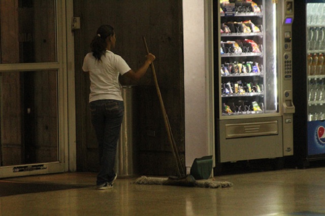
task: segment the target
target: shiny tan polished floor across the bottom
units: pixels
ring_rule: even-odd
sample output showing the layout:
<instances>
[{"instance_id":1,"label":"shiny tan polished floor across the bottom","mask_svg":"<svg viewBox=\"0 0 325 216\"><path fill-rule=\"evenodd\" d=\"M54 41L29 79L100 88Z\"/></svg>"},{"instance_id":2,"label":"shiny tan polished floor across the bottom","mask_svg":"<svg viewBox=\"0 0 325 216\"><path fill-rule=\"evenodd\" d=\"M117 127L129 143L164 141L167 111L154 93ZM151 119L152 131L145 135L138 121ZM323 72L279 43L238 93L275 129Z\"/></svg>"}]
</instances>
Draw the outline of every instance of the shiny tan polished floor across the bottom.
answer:
<instances>
[{"instance_id":1,"label":"shiny tan polished floor across the bottom","mask_svg":"<svg viewBox=\"0 0 325 216\"><path fill-rule=\"evenodd\" d=\"M135 185L94 189L95 173L1 179L80 188L0 197L0 215L325 215L325 167L216 176L231 188ZM0 182L1 184L1 182Z\"/></svg>"}]
</instances>

